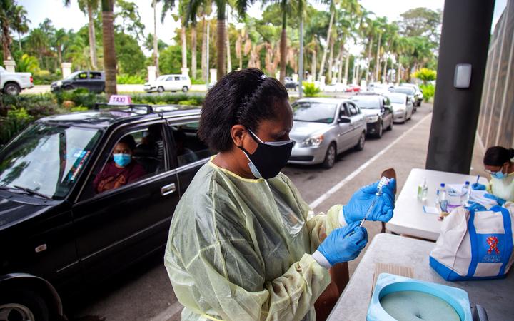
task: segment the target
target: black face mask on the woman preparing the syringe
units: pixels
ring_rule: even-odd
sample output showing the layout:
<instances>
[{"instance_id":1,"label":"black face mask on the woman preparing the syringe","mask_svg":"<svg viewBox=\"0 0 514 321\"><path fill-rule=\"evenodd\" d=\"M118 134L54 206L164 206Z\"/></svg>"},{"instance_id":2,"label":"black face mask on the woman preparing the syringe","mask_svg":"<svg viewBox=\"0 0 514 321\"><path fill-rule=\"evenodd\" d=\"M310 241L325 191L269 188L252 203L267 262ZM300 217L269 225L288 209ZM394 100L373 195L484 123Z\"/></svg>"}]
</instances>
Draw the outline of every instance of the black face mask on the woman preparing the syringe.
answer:
<instances>
[{"instance_id":1,"label":"black face mask on the woman preparing the syringe","mask_svg":"<svg viewBox=\"0 0 514 321\"><path fill-rule=\"evenodd\" d=\"M272 141L264 143L261 138L252 133L248 129L248 133L257 143L257 149L253 154L248 153L244 148L241 148L248 157L250 163L250 170L256 178L273 178L281 169L286 167L291 151L293 150L294 142L289 141Z\"/></svg>"}]
</instances>

